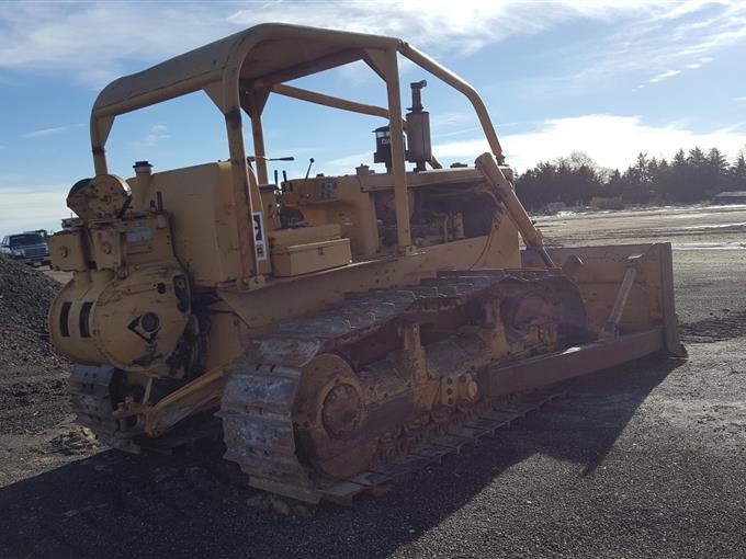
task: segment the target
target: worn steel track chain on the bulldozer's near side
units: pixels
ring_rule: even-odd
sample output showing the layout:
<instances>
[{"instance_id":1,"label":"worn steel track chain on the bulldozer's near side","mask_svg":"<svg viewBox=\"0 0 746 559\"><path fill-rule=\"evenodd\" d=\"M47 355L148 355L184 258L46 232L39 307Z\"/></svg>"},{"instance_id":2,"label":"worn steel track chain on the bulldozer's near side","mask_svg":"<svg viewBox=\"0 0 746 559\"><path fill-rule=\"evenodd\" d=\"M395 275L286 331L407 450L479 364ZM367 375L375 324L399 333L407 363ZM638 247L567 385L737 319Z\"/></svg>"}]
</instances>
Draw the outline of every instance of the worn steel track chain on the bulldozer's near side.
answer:
<instances>
[{"instance_id":1,"label":"worn steel track chain on the bulldozer's near side","mask_svg":"<svg viewBox=\"0 0 746 559\"><path fill-rule=\"evenodd\" d=\"M411 287L348 294L337 308L280 324L276 334L252 341L229 370L218 412L227 446L225 457L239 464L259 489L310 502L349 502L357 493L375 490L459 452L465 444L478 443L546 400L512 415L504 409L490 409L478 421L445 429L445 434L403 458L319 489L296 456L292 408L302 367L314 355L339 350L408 313L438 313L463 306L505 280L551 280L554 275L553 271L445 272Z\"/></svg>"}]
</instances>

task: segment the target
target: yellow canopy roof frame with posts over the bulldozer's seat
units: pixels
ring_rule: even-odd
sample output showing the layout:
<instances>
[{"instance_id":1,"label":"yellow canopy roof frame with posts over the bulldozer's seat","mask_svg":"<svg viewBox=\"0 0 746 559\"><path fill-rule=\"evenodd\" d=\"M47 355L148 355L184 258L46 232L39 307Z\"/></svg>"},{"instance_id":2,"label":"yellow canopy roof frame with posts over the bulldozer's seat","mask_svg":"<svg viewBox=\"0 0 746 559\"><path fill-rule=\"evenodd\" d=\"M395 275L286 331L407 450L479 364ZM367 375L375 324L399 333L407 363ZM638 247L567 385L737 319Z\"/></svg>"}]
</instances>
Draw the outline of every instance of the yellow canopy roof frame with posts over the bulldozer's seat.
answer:
<instances>
[{"instance_id":1,"label":"yellow canopy roof frame with posts over the bulldozer's seat","mask_svg":"<svg viewBox=\"0 0 746 559\"><path fill-rule=\"evenodd\" d=\"M398 247L411 251L397 54L464 94L472 103L490 150L502 162L502 149L477 92L432 58L395 37L267 23L250 27L142 72L106 85L91 112L91 148L97 174L108 173L105 142L114 118L145 106L204 90L224 114L236 206L241 284L263 282L253 236L250 170L246 157L241 110L251 119L259 182L267 182L261 113L271 92L347 111L388 117ZM285 85L283 82L355 60L364 60L386 83L387 107ZM256 185L255 185L256 189ZM257 198L258 199L258 198ZM258 204L258 207L261 207Z\"/></svg>"}]
</instances>

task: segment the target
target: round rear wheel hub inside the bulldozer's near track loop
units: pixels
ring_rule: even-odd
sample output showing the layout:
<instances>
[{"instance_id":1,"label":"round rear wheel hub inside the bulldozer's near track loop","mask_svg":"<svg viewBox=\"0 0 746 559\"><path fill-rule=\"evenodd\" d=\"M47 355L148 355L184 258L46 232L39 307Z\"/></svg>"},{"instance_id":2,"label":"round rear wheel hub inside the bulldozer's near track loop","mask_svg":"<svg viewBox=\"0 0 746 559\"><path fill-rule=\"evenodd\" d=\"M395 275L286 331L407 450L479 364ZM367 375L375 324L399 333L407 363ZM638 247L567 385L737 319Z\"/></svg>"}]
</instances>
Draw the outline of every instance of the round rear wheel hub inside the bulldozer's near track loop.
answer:
<instances>
[{"instance_id":1,"label":"round rear wheel hub inside the bulldozer's near track loop","mask_svg":"<svg viewBox=\"0 0 746 559\"><path fill-rule=\"evenodd\" d=\"M298 458L323 477L344 479L370 468L376 445L363 390L339 355L317 355L303 368L293 424Z\"/></svg>"}]
</instances>

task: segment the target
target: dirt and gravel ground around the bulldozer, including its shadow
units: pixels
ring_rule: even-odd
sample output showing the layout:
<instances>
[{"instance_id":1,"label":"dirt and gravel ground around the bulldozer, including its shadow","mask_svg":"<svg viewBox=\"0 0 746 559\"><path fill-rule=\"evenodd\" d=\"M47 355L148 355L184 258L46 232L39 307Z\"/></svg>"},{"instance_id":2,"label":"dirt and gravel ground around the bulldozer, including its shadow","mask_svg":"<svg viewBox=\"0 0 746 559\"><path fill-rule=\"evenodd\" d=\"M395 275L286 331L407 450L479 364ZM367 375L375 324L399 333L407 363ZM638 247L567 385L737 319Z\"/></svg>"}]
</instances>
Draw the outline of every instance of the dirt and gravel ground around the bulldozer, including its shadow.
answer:
<instances>
[{"instance_id":1,"label":"dirt and gravel ground around the bulldozer, including its shadow","mask_svg":"<svg viewBox=\"0 0 746 559\"><path fill-rule=\"evenodd\" d=\"M289 515L257 506L212 449L97 447L71 424L64 370L37 383L26 369L0 411L0 557L743 557L746 207L539 225L561 246L671 240L689 361L573 381L382 497Z\"/></svg>"}]
</instances>

